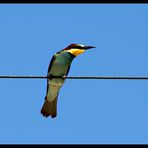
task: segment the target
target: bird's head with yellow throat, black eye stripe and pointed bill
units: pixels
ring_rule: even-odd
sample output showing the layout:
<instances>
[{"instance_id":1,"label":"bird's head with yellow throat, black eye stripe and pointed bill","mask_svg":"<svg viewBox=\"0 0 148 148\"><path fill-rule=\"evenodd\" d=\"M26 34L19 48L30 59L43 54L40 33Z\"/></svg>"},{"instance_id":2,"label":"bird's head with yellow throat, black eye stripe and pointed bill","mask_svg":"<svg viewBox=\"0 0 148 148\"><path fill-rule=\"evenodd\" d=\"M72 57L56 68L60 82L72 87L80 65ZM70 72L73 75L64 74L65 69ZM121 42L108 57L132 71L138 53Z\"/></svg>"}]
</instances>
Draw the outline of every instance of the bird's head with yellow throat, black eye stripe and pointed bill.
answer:
<instances>
[{"instance_id":1,"label":"bird's head with yellow throat, black eye stripe and pointed bill","mask_svg":"<svg viewBox=\"0 0 148 148\"><path fill-rule=\"evenodd\" d=\"M71 53L74 56L78 56L88 49L95 48L94 46L84 46L81 44L70 44L64 50Z\"/></svg>"}]
</instances>

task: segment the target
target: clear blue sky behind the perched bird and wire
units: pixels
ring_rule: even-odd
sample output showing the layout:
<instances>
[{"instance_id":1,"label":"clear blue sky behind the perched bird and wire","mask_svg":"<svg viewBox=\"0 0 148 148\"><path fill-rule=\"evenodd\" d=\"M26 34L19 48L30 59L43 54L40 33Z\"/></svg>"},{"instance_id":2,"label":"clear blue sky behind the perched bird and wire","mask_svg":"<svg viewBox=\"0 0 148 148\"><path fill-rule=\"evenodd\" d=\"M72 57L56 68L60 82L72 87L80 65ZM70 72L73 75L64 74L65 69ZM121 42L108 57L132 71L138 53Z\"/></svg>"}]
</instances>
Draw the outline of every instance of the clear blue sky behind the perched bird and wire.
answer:
<instances>
[{"instance_id":1,"label":"clear blue sky behind the perched bird and wire","mask_svg":"<svg viewBox=\"0 0 148 148\"><path fill-rule=\"evenodd\" d=\"M69 76L148 75L147 4L1 4L0 75L46 75L53 54L94 45ZM148 81L66 80L57 118L45 79L0 79L0 143L148 143Z\"/></svg>"}]
</instances>

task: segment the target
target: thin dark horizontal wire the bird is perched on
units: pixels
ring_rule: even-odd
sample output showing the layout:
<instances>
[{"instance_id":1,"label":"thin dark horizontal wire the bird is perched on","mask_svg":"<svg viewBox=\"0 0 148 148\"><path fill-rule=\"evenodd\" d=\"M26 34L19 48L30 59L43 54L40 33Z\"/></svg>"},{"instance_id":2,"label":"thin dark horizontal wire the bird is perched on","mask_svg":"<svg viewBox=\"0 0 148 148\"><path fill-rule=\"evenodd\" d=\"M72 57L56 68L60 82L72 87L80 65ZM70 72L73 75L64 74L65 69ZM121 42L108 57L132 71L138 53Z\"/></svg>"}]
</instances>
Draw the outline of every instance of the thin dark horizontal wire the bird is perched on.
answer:
<instances>
[{"instance_id":1,"label":"thin dark horizontal wire the bird is perched on","mask_svg":"<svg viewBox=\"0 0 148 148\"><path fill-rule=\"evenodd\" d=\"M47 79L48 76L15 76L15 75L1 75L0 78L11 79ZM112 80L148 80L148 76L63 76L52 78L64 78L64 79L112 79Z\"/></svg>"}]
</instances>

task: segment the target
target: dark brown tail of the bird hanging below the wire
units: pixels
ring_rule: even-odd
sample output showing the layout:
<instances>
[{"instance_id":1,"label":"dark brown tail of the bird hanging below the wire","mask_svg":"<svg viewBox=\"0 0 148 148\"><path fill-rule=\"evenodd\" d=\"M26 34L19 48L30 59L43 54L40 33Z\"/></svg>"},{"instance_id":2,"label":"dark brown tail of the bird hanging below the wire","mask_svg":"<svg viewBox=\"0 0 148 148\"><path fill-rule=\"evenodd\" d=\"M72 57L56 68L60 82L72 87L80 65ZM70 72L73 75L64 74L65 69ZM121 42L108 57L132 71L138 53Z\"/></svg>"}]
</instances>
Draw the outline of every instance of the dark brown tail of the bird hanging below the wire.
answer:
<instances>
[{"instance_id":1,"label":"dark brown tail of the bird hanging below the wire","mask_svg":"<svg viewBox=\"0 0 148 148\"><path fill-rule=\"evenodd\" d=\"M48 101L45 97L45 102L41 109L41 114L48 117L51 115L52 118L57 116L57 97L53 101Z\"/></svg>"}]
</instances>

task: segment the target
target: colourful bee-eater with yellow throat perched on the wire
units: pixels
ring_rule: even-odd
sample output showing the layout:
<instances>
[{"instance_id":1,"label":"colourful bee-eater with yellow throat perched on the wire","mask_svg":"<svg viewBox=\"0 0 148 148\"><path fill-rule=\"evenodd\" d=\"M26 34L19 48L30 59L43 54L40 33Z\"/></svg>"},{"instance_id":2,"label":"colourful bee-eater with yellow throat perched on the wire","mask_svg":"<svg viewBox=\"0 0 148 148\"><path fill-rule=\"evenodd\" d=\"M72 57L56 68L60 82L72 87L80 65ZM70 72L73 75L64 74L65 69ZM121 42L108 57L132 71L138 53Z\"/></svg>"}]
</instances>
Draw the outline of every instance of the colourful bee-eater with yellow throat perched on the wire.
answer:
<instances>
[{"instance_id":1,"label":"colourful bee-eater with yellow throat perched on the wire","mask_svg":"<svg viewBox=\"0 0 148 148\"><path fill-rule=\"evenodd\" d=\"M65 82L63 76L68 75L75 57L91 48L95 48L95 46L73 43L53 55L48 66L46 96L40 111L44 117L55 118L57 116L58 95Z\"/></svg>"}]
</instances>

